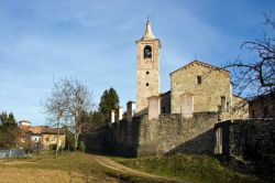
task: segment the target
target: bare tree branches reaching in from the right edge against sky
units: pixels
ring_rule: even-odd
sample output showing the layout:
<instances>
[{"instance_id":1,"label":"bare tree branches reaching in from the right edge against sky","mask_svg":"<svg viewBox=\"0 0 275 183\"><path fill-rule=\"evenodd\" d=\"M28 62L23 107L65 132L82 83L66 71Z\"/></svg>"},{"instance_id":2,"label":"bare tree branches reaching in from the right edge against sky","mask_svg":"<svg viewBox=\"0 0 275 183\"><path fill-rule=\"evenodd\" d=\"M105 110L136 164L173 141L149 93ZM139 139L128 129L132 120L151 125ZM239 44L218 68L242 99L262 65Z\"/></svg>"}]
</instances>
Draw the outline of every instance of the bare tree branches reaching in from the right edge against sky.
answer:
<instances>
[{"instance_id":1,"label":"bare tree branches reaching in from the right edge against sky","mask_svg":"<svg viewBox=\"0 0 275 183\"><path fill-rule=\"evenodd\" d=\"M238 94L244 94L249 99L275 92L275 19L266 14L264 18L264 24L271 31L264 31L262 39L246 41L241 45L241 49L257 55L255 61L238 58L226 66L233 71L233 84Z\"/></svg>"}]
</instances>

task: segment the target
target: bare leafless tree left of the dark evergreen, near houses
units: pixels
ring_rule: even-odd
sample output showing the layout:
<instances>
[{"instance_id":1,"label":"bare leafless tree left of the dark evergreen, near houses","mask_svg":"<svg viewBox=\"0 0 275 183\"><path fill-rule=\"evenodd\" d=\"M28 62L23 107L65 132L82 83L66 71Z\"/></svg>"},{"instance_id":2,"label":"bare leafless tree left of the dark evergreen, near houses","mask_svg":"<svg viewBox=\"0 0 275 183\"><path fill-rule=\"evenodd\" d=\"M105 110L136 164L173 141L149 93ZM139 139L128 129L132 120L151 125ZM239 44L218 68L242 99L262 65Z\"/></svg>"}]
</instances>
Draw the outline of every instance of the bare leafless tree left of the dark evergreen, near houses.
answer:
<instances>
[{"instance_id":1,"label":"bare leafless tree left of the dark evergreen, near houses","mask_svg":"<svg viewBox=\"0 0 275 183\"><path fill-rule=\"evenodd\" d=\"M56 153L61 125L66 125L74 132L76 149L79 134L86 126L81 115L92 107L91 93L79 80L63 78L54 83L52 93L43 106L48 121L57 127Z\"/></svg>"}]
</instances>

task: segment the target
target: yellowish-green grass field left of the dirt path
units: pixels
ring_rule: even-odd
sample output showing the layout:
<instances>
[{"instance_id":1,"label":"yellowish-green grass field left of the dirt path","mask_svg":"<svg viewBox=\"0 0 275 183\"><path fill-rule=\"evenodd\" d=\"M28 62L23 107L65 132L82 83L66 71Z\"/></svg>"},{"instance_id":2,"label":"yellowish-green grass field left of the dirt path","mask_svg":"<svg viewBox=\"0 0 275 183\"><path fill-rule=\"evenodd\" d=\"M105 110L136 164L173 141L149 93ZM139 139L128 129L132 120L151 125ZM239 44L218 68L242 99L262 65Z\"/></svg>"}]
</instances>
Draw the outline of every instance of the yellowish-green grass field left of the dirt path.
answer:
<instances>
[{"instance_id":1,"label":"yellowish-green grass field left of the dirt path","mask_svg":"<svg viewBox=\"0 0 275 183\"><path fill-rule=\"evenodd\" d=\"M30 159L0 161L0 182L157 182L101 166L92 155L82 153L41 153Z\"/></svg>"}]
</instances>

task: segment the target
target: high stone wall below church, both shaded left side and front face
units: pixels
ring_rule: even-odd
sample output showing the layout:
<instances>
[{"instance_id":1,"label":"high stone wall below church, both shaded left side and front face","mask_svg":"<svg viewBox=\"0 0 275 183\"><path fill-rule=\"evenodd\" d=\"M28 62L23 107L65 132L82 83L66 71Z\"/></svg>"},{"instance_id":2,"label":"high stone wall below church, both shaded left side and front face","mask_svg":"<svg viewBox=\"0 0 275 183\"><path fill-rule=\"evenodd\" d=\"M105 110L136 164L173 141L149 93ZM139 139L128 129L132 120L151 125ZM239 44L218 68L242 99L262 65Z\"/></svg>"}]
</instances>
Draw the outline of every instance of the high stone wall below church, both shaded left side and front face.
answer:
<instances>
[{"instance_id":1,"label":"high stone wall below church, both shaded left side and front face","mask_svg":"<svg viewBox=\"0 0 275 183\"><path fill-rule=\"evenodd\" d=\"M212 153L216 112L197 112L194 118L180 115L147 116L131 122L114 122L109 131L111 152L124 157L147 157L172 153Z\"/></svg>"}]
</instances>

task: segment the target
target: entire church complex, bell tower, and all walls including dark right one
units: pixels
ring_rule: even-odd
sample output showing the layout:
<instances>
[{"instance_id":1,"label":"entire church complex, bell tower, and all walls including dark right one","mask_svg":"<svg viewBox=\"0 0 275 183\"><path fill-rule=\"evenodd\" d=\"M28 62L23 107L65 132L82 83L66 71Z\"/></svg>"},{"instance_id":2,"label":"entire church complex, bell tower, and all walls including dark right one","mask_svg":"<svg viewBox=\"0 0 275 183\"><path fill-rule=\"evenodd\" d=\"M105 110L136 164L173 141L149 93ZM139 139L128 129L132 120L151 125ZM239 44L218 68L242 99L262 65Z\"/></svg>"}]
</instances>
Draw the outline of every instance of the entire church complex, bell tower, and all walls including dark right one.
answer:
<instances>
[{"instance_id":1,"label":"entire church complex, bell tower, and all walls including dark right one","mask_svg":"<svg viewBox=\"0 0 275 183\"><path fill-rule=\"evenodd\" d=\"M136 103L128 103L124 119L113 118L82 136L88 151L123 157L218 153L224 160L237 157L240 162L239 158L244 158L255 163L261 174L271 176L275 166L274 118L245 119L248 100L232 94L229 71L193 61L170 73L170 90L161 94L161 44L150 22L136 43ZM266 99L251 101L251 116L274 117L274 100L262 109L263 101ZM272 176L274 180L274 173Z\"/></svg>"}]
</instances>

